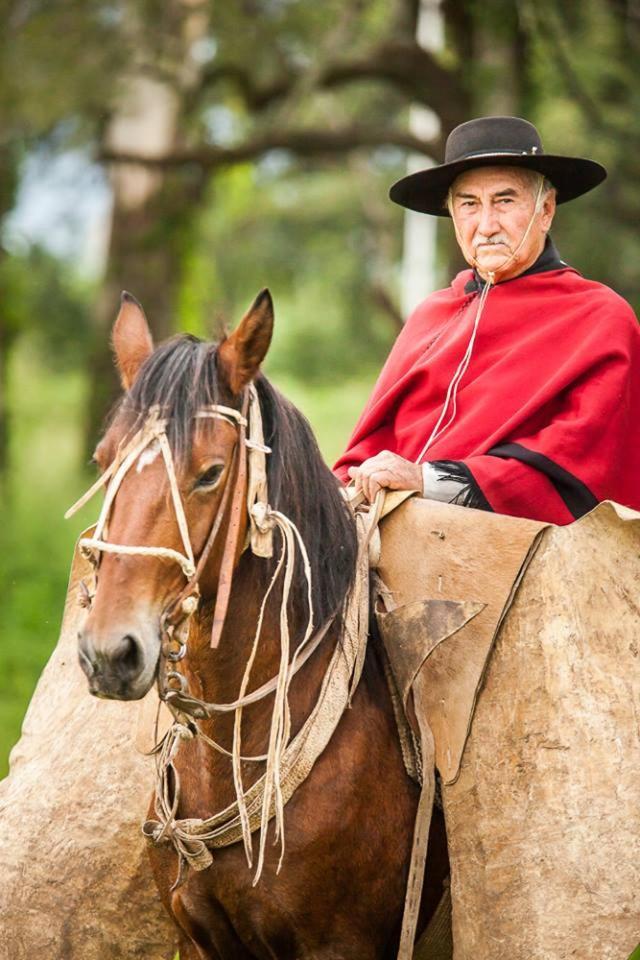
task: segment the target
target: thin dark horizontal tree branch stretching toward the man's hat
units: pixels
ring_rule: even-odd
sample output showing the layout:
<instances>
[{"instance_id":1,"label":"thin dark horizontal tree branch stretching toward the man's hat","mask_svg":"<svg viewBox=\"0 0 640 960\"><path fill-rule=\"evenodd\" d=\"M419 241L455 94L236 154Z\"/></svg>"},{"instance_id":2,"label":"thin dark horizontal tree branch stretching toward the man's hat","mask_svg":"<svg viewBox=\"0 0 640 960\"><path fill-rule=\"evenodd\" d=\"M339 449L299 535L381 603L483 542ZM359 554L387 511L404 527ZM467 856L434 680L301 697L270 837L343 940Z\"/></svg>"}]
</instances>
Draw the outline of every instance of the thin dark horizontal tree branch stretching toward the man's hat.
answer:
<instances>
[{"instance_id":1,"label":"thin dark horizontal tree branch stretching toward the man's hat","mask_svg":"<svg viewBox=\"0 0 640 960\"><path fill-rule=\"evenodd\" d=\"M270 150L290 150L299 157L321 157L346 153L357 147L379 146L403 147L428 157L439 156L443 150L439 137L426 141L407 130L393 127L346 127L341 130L270 130L234 147L198 147L160 156L104 149L99 159L163 170L187 165L213 170L254 159Z\"/></svg>"}]
</instances>

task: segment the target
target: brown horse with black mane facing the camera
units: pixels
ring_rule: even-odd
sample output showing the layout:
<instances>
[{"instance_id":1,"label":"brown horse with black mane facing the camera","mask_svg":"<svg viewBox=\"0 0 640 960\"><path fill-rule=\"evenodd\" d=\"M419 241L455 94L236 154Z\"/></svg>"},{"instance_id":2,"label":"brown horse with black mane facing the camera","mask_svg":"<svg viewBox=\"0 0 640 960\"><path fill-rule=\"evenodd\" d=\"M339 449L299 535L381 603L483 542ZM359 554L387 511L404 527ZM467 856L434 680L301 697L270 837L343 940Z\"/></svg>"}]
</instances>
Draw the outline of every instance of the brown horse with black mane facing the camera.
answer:
<instances>
[{"instance_id":1,"label":"brown horse with black mane facing the camera","mask_svg":"<svg viewBox=\"0 0 640 960\"><path fill-rule=\"evenodd\" d=\"M216 404L240 410L247 387L255 385L264 439L271 448L267 466L270 503L300 531L312 574L315 625L329 624L291 685L291 733L295 734L312 709L333 651L341 642L341 611L352 587L357 543L351 512L307 422L259 372L272 326L271 297L264 291L237 330L218 345L180 336L154 350L141 308L125 295L113 334L125 395L95 458L103 471L108 470L132 432L150 411L159 409L166 422L196 563L208 550L216 518L220 521L220 535L202 565L199 607L180 668L197 697L233 701L276 558L242 551L248 524L243 509L224 627L218 646L211 649L213 606L231 523L230 501L224 493L246 480L234 454L237 424L230 418L199 418L198 412ZM152 444L122 478L105 539L182 551L172 496L163 458ZM80 662L93 694L133 700L147 693L161 661L163 617L184 583L184 572L164 557L121 552L100 555L95 594L79 638ZM279 599L275 590L266 605L250 690L278 673ZM295 649L308 616L300 560L293 572L288 614ZM243 755L265 753L271 699L265 697L245 708ZM231 714L203 719L199 726L209 738L231 749ZM230 760L212 750L202 737L182 742L174 765L180 777L180 817L206 818L233 803L236 794ZM242 765L246 785L261 772L260 764ZM284 808L286 851L279 873L279 850L270 842L273 822L264 869L256 885L241 842L213 851L207 869L187 868L177 885L178 856L173 846L151 847L160 895L180 931L181 960L393 957L417 801L418 788L403 766L384 671L370 644L351 709L345 711L328 747ZM440 898L448 870L443 838L441 816L436 811L421 926Z\"/></svg>"}]
</instances>

